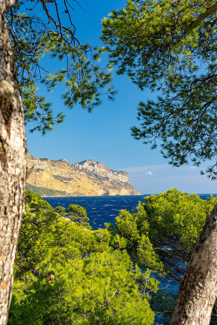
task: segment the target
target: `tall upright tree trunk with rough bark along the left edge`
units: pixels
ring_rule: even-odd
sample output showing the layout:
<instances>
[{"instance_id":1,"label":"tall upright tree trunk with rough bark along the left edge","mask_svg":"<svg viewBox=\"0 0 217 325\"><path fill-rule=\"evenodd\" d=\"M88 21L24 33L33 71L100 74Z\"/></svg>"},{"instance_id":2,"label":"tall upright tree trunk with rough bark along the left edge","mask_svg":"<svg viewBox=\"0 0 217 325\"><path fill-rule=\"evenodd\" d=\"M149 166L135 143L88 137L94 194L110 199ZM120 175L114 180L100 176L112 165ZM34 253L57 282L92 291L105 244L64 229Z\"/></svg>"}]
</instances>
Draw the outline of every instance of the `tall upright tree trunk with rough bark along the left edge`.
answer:
<instances>
[{"instance_id":1,"label":"tall upright tree trunk with rough bark along the left edge","mask_svg":"<svg viewBox=\"0 0 217 325\"><path fill-rule=\"evenodd\" d=\"M26 138L22 100L5 14L18 2L0 0L0 324L7 324L13 266L24 208Z\"/></svg>"}]
</instances>

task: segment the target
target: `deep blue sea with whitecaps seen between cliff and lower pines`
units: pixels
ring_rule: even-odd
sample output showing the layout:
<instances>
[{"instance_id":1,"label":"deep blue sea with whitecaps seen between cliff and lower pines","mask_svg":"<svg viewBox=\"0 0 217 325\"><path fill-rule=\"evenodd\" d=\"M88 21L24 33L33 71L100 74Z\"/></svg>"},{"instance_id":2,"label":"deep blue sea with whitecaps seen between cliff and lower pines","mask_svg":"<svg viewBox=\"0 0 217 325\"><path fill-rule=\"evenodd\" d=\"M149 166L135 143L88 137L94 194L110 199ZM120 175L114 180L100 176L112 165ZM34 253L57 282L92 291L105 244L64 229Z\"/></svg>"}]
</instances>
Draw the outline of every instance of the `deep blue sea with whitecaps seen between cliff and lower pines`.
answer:
<instances>
[{"instance_id":1,"label":"deep blue sea with whitecaps seen between cliff and lower pines","mask_svg":"<svg viewBox=\"0 0 217 325\"><path fill-rule=\"evenodd\" d=\"M154 193L153 193L154 194ZM115 225L115 218L121 210L132 211L138 206L138 202L145 202L145 197L152 194L142 195L126 195L126 196L76 196L76 197L50 197L44 198L53 208L60 205L67 207L70 204L78 204L84 207L87 211L87 216L90 219L89 223L92 230L99 228L105 228L104 223L112 223ZM157 194L156 194L157 195ZM203 200L206 200L213 195L217 196L217 193L212 194L198 194ZM154 274L153 274L154 276ZM161 286L167 287L167 290L174 290L174 294L178 293L179 286L176 281L168 280L167 278L161 279Z\"/></svg>"}]
</instances>

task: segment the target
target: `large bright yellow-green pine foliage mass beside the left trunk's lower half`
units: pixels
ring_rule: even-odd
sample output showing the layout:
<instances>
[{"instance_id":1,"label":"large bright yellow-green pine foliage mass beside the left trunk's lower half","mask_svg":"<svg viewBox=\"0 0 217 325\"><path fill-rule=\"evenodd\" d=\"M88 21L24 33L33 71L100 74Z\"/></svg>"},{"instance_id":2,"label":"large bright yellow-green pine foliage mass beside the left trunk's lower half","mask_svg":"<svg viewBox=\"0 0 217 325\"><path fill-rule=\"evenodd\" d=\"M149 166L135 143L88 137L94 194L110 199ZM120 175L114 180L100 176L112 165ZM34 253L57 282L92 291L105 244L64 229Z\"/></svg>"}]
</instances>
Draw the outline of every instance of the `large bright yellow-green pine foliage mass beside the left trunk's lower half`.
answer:
<instances>
[{"instance_id":1,"label":"large bright yellow-green pine foliage mass beside the left trunk's lower half","mask_svg":"<svg viewBox=\"0 0 217 325\"><path fill-rule=\"evenodd\" d=\"M27 192L8 325L153 324L150 270L133 265L124 243L111 245L107 228L68 222L42 200Z\"/></svg>"}]
</instances>

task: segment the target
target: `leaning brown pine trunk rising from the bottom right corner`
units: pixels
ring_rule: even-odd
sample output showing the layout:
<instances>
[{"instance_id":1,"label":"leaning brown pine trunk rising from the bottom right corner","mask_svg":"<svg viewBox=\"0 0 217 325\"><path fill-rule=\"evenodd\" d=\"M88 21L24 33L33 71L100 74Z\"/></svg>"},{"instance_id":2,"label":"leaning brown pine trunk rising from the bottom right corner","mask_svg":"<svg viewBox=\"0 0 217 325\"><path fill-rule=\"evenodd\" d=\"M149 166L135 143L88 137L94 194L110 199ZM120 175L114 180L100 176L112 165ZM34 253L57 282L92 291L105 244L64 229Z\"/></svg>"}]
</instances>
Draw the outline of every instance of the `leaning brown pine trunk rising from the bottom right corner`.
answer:
<instances>
[{"instance_id":1,"label":"leaning brown pine trunk rising from the bottom right corner","mask_svg":"<svg viewBox=\"0 0 217 325\"><path fill-rule=\"evenodd\" d=\"M195 245L181 280L170 325L208 325L217 296L217 205Z\"/></svg>"}]
</instances>

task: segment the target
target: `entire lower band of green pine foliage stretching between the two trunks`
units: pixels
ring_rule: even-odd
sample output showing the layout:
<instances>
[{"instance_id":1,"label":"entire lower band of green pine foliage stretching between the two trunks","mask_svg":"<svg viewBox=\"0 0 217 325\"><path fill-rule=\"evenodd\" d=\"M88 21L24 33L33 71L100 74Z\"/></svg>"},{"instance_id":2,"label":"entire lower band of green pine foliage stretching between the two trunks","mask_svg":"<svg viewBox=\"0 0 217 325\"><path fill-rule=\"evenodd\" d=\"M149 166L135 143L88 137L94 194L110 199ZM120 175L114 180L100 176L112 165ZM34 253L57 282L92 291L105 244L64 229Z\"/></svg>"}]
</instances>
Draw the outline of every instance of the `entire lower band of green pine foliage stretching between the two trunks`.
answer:
<instances>
[{"instance_id":1,"label":"entire lower band of green pine foliage stretching between the two trunks","mask_svg":"<svg viewBox=\"0 0 217 325\"><path fill-rule=\"evenodd\" d=\"M78 205L65 213L29 190L25 201L8 325L149 325L154 313L169 325L176 295L156 278L180 282L217 198L172 188L94 231Z\"/></svg>"}]
</instances>

